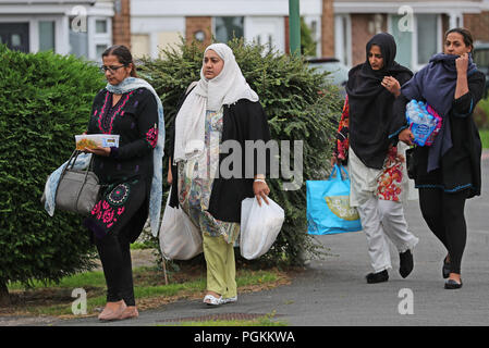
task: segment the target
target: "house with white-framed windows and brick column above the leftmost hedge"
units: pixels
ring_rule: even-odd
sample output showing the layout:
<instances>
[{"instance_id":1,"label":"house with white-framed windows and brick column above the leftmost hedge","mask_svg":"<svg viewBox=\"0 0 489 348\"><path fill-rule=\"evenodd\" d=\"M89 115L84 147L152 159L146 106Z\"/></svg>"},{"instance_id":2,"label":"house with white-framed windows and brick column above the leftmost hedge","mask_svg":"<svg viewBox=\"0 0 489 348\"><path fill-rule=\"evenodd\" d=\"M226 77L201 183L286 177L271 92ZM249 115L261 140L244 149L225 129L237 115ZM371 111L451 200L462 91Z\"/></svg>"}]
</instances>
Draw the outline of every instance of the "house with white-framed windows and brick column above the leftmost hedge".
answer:
<instances>
[{"instance_id":1,"label":"house with white-framed windows and brick column above the leftmost hedge","mask_svg":"<svg viewBox=\"0 0 489 348\"><path fill-rule=\"evenodd\" d=\"M0 42L100 60L111 45L131 45L130 0L0 0Z\"/></svg>"}]
</instances>

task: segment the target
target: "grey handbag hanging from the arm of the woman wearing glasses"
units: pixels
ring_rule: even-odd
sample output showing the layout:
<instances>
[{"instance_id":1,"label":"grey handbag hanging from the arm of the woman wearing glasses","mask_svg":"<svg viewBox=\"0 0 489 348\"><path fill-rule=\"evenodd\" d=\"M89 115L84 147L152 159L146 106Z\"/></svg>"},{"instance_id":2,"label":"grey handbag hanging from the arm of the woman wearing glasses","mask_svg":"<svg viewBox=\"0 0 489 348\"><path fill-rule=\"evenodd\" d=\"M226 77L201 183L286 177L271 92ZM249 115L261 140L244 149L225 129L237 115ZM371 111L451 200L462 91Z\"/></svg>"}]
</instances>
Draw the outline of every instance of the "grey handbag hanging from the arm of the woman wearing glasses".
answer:
<instances>
[{"instance_id":1,"label":"grey handbag hanging from the arm of the woman wearing glasses","mask_svg":"<svg viewBox=\"0 0 489 348\"><path fill-rule=\"evenodd\" d=\"M90 171L94 157L86 170L73 169L80 151L74 151L60 176L56 191L56 208L82 215L90 213L98 201L100 184L97 175ZM72 162L73 159L73 162Z\"/></svg>"}]
</instances>

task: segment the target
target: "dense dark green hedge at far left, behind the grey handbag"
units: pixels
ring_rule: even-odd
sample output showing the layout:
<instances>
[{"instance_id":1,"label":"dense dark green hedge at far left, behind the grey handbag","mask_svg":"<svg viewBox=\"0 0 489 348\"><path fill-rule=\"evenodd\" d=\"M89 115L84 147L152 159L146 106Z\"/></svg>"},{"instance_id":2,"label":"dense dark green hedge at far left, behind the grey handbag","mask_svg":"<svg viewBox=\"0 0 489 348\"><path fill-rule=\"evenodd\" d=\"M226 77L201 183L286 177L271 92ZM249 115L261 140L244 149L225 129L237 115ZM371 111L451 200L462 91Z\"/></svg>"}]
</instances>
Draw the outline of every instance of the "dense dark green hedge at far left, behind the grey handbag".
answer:
<instances>
[{"instance_id":1,"label":"dense dark green hedge at far left, behind the grey handbag","mask_svg":"<svg viewBox=\"0 0 489 348\"><path fill-rule=\"evenodd\" d=\"M68 160L105 86L91 64L52 52L0 46L0 293L8 281L52 279L85 270L94 248L81 217L41 197L47 176Z\"/></svg>"}]
</instances>

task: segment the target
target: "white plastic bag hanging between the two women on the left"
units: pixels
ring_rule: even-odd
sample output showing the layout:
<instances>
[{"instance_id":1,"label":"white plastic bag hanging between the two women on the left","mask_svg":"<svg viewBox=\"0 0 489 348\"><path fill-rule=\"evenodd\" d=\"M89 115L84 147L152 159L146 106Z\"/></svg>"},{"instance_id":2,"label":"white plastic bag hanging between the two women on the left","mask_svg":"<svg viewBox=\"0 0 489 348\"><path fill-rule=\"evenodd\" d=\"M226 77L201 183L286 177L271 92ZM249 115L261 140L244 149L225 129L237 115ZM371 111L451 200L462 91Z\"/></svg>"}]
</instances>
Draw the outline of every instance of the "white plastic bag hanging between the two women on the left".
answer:
<instances>
[{"instance_id":1,"label":"white plastic bag hanging between the two women on the left","mask_svg":"<svg viewBox=\"0 0 489 348\"><path fill-rule=\"evenodd\" d=\"M180 207L169 206L170 196L159 233L161 253L167 260L190 260L203 252L203 236Z\"/></svg>"}]
</instances>

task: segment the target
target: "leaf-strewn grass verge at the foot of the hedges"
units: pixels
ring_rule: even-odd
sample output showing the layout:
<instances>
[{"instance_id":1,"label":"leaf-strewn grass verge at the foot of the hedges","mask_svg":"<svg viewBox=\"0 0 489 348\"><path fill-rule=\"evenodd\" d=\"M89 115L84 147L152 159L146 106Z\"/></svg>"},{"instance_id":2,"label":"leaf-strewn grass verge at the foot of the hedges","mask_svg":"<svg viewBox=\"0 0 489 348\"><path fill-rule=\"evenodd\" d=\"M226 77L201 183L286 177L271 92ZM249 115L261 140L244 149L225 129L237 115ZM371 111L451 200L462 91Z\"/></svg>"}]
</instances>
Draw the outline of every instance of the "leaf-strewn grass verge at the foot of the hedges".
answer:
<instances>
[{"instance_id":1,"label":"leaf-strewn grass verge at the foot of the hedges","mask_svg":"<svg viewBox=\"0 0 489 348\"><path fill-rule=\"evenodd\" d=\"M206 290L206 272L201 265L193 265L169 274L169 284L164 274L156 266L136 268L133 272L134 293L139 310L157 308L182 298L199 299ZM258 291L282 284L289 284L290 277L279 270L236 271L239 293ZM13 304L0 308L0 315L49 315L63 319L75 318L72 312L73 289L82 288L87 295L87 314L98 315L106 303L106 282L101 271L85 272L64 277L59 284L34 282L33 287L24 289L19 283L10 284L9 291ZM80 318L81 315L76 315ZM264 319L266 320L266 319ZM240 322L252 325L253 322L265 325L266 322ZM271 322L271 320L270 320ZM223 323L220 323L221 325Z\"/></svg>"}]
</instances>

